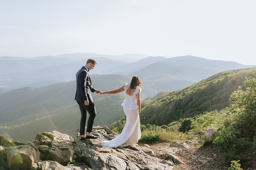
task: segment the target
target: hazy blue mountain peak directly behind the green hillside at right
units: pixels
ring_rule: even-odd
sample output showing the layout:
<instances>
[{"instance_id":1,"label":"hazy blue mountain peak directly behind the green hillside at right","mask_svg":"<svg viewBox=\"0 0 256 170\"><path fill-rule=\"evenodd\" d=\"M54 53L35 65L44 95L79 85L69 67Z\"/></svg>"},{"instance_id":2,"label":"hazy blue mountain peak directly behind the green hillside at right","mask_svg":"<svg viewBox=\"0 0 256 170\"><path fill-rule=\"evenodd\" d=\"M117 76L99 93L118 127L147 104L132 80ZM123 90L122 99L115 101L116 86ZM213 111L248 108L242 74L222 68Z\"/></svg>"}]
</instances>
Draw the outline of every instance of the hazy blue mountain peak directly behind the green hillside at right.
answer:
<instances>
[{"instance_id":1,"label":"hazy blue mountain peak directly behind the green hillside at right","mask_svg":"<svg viewBox=\"0 0 256 170\"><path fill-rule=\"evenodd\" d=\"M204 59L194 56L181 56L164 59L153 63L145 68L135 71L129 75L138 75L141 78L154 79L161 75L172 75L174 77L198 82L221 71L251 68L256 65L242 65L238 62ZM152 73L153 72L153 73Z\"/></svg>"}]
</instances>

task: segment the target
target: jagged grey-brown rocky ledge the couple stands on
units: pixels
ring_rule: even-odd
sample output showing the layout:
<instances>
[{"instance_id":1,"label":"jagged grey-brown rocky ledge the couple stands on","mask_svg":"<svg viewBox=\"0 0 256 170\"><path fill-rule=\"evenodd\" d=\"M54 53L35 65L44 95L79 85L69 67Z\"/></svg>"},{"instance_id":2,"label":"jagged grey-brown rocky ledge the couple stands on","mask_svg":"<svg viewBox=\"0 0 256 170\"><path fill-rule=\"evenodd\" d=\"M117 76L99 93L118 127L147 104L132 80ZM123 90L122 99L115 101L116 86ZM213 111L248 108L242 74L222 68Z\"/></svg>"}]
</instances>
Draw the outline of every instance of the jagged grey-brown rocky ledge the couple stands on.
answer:
<instances>
[{"instance_id":1,"label":"jagged grey-brown rocky ledge the couple stands on","mask_svg":"<svg viewBox=\"0 0 256 170\"><path fill-rule=\"evenodd\" d=\"M81 142L57 131L37 134L35 141L17 142L0 136L0 170L172 170L171 156L154 157L137 144L105 148L103 140L118 136L106 126L93 127L99 139Z\"/></svg>"}]
</instances>

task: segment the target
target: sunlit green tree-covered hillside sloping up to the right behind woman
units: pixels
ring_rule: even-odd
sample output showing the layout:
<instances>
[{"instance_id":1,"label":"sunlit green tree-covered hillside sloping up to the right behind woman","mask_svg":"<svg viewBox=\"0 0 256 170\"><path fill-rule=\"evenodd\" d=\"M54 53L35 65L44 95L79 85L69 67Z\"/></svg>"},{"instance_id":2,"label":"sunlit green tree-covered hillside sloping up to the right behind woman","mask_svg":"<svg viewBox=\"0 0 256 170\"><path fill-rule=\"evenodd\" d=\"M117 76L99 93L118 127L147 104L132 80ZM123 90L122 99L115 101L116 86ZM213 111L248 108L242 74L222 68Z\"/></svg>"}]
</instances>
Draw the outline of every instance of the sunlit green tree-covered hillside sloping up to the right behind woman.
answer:
<instances>
[{"instance_id":1,"label":"sunlit green tree-covered hillside sloping up to the right behind woman","mask_svg":"<svg viewBox=\"0 0 256 170\"><path fill-rule=\"evenodd\" d=\"M256 68L224 71L188 88L142 103L142 124L167 125L180 118L229 106L234 90L246 77L256 78Z\"/></svg>"}]
</instances>

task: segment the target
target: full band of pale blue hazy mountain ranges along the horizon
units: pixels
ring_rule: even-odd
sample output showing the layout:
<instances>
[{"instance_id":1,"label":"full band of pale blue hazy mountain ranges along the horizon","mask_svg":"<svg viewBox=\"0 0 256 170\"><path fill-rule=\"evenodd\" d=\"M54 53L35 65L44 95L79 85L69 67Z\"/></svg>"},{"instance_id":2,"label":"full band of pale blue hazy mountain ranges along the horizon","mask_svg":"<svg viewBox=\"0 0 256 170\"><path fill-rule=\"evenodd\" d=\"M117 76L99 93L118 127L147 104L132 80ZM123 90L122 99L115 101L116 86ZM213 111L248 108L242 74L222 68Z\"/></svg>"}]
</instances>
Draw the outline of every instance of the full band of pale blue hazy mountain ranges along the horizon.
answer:
<instances>
[{"instance_id":1,"label":"full band of pale blue hazy mountain ranges along the horizon","mask_svg":"<svg viewBox=\"0 0 256 170\"><path fill-rule=\"evenodd\" d=\"M204 59L193 56L145 57L140 54L119 56L76 53L35 58L0 57L0 93L26 86L45 86L55 82L72 81L76 71L85 64L88 57L94 57L98 65L90 74L137 75L143 80L166 81L163 90L178 90L220 71L249 68L237 62ZM103 57L102 57L103 56ZM125 62L109 58L143 58L136 62ZM82 59L83 58L83 59ZM155 87L158 88L158 87ZM162 89L162 88L161 88Z\"/></svg>"}]
</instances>

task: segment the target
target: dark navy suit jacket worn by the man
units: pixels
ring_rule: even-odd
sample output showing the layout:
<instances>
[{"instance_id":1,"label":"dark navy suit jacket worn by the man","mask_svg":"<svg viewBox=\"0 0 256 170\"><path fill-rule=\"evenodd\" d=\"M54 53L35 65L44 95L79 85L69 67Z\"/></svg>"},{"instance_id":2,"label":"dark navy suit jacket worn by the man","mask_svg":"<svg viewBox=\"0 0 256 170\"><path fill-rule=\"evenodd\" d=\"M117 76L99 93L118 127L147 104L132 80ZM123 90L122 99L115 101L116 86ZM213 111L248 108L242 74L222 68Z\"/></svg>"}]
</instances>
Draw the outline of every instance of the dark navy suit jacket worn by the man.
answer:
<instances>
[{"instance_id":1,"label":"dark navy suit jacket worn by the man","mask_svg":"<svg viewBox=\"0 0 256 170\"><path fill-rule=\"evenodd\" d=\"M83 66L76 73L76 101L89 100L89 103L93 102L93 97L90 92L95 92L96 89L93 88L91 84L89 73Z\"/></svg>"}]
</instances>

